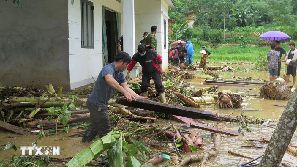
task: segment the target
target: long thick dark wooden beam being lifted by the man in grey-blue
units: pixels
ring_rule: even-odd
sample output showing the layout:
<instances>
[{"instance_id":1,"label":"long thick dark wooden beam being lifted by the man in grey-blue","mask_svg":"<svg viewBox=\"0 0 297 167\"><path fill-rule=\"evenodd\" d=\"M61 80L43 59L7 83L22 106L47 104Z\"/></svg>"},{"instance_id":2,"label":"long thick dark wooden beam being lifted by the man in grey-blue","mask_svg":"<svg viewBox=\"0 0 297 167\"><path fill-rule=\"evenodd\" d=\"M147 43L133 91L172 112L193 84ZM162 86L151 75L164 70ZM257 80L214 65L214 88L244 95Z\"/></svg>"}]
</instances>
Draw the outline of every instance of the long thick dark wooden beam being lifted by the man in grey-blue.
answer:
<instances>
[{"instance_id":1,"label":"long thick dark wooden beam being lifted by the man in grey-blue","mask_svg":"<svg viewBox=\"0 0 297 167\"><path fill-rule=\"evenodd\" d=\"M182 105L172 105L172 104L165 104L165 103L158 103L151 100L137 98L136 100L132 100L131 103L127 102L127 99L124 97L118 97L116 103L141 108L149 111L155 111L165 114L173 114L177 116L183 116L187 118L193 119L207 119L212 121L217 121L221 119L225 119L226 121L239 121L238 117L236 116L229 116L227 114L220 114L220 113L212 113L209 111L200 110L197 108L190 108L185 107ZM227 118L226 118L227 117Z\"/></svg>"}]
</instances>

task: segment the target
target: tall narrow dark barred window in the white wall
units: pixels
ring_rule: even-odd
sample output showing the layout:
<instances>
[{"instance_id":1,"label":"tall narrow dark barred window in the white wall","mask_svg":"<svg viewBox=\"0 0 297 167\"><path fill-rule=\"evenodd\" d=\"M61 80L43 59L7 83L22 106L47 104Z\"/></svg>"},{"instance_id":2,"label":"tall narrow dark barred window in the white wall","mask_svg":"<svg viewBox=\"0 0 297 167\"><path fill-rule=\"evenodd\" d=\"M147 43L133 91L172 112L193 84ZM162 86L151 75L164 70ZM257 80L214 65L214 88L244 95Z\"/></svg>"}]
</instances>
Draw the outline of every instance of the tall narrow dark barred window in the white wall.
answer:
<instances>
[{"instance_id":1,"label":"tall narrow dark barred window in the white wall","mask_svg":"<svg viewBox=\"0 0 297 167\"><path fill-rule=\"evenodd\" d=\"M81 48L94 48L94 5L87 0L80 1Z\"/></svg>"}]
</instances>

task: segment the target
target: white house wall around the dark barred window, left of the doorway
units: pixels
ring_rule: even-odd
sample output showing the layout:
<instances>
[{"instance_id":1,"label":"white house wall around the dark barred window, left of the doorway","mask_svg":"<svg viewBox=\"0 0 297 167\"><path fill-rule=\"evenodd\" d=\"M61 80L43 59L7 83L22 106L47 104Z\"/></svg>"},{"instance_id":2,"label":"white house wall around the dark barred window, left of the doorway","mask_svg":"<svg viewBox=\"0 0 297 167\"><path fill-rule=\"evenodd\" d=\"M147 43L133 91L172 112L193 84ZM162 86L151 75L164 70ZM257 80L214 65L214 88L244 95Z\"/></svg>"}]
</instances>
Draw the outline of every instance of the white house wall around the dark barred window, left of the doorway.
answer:
<instances>
[{"instance_id":1,"label":"white house wall around the dark barred window, left of the doorway","mask_svg":"<svg viewBox=\"0 0 297 167\"><path fill-rule=\"evenodd\" d=\"M102 54L102 6L123 13L123 4L116 0L89 0L94 3L94 49L81 48L80 0L68 0L69 69L71 89L96 80L103 67ZM122 21L121 21L122 23ZM121 26L121 32L122 31Z\"/></svg>"}]
</instances>

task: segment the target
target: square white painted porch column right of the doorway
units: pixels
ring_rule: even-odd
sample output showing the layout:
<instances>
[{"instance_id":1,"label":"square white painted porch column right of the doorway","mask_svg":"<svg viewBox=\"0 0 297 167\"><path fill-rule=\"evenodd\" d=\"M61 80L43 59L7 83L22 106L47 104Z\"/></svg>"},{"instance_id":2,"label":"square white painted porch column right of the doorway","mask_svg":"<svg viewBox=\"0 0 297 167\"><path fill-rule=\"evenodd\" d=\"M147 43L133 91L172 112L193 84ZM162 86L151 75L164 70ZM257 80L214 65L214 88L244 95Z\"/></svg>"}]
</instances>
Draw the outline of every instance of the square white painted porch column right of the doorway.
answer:
<instances>
[{"instance_id":1,"label":"square white painted porch column right of the doorway","mask_svg":"<svg viewBox=\"0 0 297 167\"><path fill-rule=\"evenodd\" d=\"M135 54L135 14L134 0L123 0L123 35L124 35L124 51L131 57ZM135 65L130 72L131 78L138 77L139 63ZM127 74L127 70L124 71Z\"/></svg>"}]
</instances>

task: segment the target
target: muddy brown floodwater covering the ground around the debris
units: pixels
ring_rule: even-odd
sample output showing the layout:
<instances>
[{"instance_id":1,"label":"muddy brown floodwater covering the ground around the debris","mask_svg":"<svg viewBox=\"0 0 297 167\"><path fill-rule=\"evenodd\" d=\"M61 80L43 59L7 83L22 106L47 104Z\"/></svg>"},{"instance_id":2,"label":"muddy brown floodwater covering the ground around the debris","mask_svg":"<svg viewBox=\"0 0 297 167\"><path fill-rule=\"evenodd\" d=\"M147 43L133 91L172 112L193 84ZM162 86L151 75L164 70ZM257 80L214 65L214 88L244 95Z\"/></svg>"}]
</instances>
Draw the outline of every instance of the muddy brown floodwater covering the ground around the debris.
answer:
<instances>
[{"instance_id":1,"label":"muddy brown floodwater covering the ground around the debris","mask_svg":"<svg viewBox=\"0 0 297 167\"><path fill-rule=\"evenodd\" d=\"M242 67L243 68L243 67ZM281 72L281 75L285 73L284 71ZM252 78L261 78L268 80L269 73L268 72L235 72L234 74L231 74L231 76L241 76L241 77L247 77L251 76ZM292 80L292 78L290 78ZM195 82L196 84L192 84L192 86L199 86L199 87L210 87L209 85L204 85L204 79L193 79L193 80L187 80L187 82ZM292 82L289 83L292 85ZM247 87L236 87L236 85L230 85L230 86L220 86L219 90L227 90L230 89L233 93L240 93L240 95L247 96L248 94L259 94L260 86L251 86L247 85ZM249 90L249 92L244 92L244 90ZM252 109L258 109L258 111L244 111L244 113L247 116L256 116L259 118L265 118L265 119L279 119L282 115L282 112L285 107L277 107L274 106L274 104L279 105L286 105L287 101L279 101L279 100L269 100L262 98L255 98L251 96L243 97L244 102L243 103L249 103L247 105L247 108ZM217 112L217 113L224 113L224 114L231 114L233 116L239 116L240 111L238 110L222 110L216 108L214 105L206 105L202 106L203 110ZM206 120L200 120L203 122L208 123L209 125L216 124L217 122L214 121L206 121ZM155 122L156 124L161 125L170 125L175 124L177 126L183 125L176 121L170 121L170 120L159 120ZM269 125L269 124L268 124ZM226 123L223 124L224 128L227 130L238 130L238 123ZM269 127L264 127L260 125L259 127L257 125L249 125L253 129L252 132L245 132L245 136L227 136L222 135L222 145L221 145L221 151L219 152L219 155L215 158L210 160L212 166L233 166L237 165L239 161L241 160L241 157L233 156L228 154L228 150L231 150L233 152L237 152L243 155L247 155L249 157L256 158L259 155L262 155L265 151L265 148L267 144L265 143L259 143L259 142L247 142L246 139L261 139L261 138L267 138L269 139L274 131L274 129ZM210 132L200 129L189 129L189 131L195 130L200 137L204 138L203 143L205 146L203 147L204 150L198 150L198 153L207 152L211 149L213 146L213 141L210 136ZM7 142L34 142L38 136L25 136L20 138L6 138L6 136L13 136L15 134L13 133L6 133L6 132L0 132L0 145L5 145ZM79 143L81 140L81 137L78 138L70 138L71 140L63 140L63 139L69 139L66 137L66 134L62 134L60 136L50 136L46 138L42 138L41 140L38 140L38 143L40 146L60 146L61 148L61 155L60 156L54 156L56 158L66 158L66 157L74 157L76 154L81 152L83 149L88 147L91 143ZM297 145L297 134L295 132L291 143ZM265 148L249 148L249 147L241 147L241 146L263 146ZM22 146L31 146L31 144L22 145ZM11 158L12 155L15 154L21 154L19 147L17 151L14 151L13 149L10 150L2 150L5 146L1 146L0 148L0 160L4 160L6 158ZM192 153L194 154L194 152ZM187 155L187 154L183 154ZM284 155L283 162L287 162L292 166L297 165L297 159L294 155L287 152ZM192 167L196 167L199 163L193 163L191 164ZM159 165L156 165L159 166Z\"/></svg>"}]
</instances>

